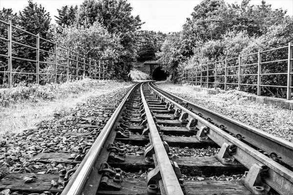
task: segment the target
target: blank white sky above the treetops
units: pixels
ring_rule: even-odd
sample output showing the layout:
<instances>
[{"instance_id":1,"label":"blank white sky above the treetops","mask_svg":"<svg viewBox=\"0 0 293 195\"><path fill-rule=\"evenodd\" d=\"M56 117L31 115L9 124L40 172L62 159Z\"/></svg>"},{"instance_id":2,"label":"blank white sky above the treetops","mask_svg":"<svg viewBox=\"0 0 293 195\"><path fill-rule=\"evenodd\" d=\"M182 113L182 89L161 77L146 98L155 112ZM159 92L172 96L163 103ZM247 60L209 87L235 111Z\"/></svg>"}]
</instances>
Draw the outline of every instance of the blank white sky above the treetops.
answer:
<instances>
[{"instance_id":1,"label":"blank white sky above the treetops","mask_svg":"<svg viewBox=\"0 0 293 195\"><path fill-rule=\"evenodd\" d=\"M140 15L142 21L146 23L143 30L161 31L163 33L178 32L190 17L193 7L202 0L128 0L133 7L132 14ZM242 0L225 0L229 3ZM80 5L83 0L34 0L50 12L52 23L58 15L57 9L65 5ZM288 15L293 16L293 0L266 0L272 4L273 9L283 8L288 10ZM15 12L22 10L27 5L27 0L0 0L0 9L12 8ZM251 0L250 4L261 4L261 0Z\"/></svg>"}]
</instances>

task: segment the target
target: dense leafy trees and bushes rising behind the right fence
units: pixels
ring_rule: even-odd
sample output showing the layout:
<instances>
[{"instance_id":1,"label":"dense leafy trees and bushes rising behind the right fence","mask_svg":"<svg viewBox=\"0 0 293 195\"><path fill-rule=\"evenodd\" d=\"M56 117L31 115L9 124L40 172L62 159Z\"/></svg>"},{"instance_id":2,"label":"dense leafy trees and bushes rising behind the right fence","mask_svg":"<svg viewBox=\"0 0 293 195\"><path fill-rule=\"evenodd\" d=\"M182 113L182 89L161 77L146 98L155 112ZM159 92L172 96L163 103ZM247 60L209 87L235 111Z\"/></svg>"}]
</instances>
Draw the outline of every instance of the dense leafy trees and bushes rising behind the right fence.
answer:
<instances>
[{"instance_id":1,"label":"dense leafy trees and bushes rising behind the right fence","mask_svg":"<svg viewBox=\"0 0 293 195\"><path fill-rule=\"evenodd\" d=\"M180 82L184 68L251 54L258 49L286 46L293 41L292 32L293 18L282 9L272 9L265 1L261 5L250 5L250 0L243 0L241 4L203 0L194 7L181 32L167 35L161 52L156 55L164 70L172 75L171 79ZM286 52L288 50L266 58L279 59ZM287 68L286 63L271 64L272 69L277 66L277 71ZM268 79L276 85L285 80L281 76ZM253 91L253 87L250 90ZM284 93L282 89L263 90L273 91L274 95Z\"/></svg>"}]
</instances>

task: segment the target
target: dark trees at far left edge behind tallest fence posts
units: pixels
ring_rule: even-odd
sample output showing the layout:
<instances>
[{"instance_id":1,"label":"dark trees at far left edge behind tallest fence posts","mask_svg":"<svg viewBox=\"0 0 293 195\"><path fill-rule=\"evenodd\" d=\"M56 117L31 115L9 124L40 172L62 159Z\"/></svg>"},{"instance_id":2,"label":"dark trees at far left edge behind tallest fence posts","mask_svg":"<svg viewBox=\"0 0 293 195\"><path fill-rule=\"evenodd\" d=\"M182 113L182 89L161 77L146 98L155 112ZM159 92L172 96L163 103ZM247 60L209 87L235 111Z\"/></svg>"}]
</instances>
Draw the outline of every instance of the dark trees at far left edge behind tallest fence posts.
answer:
<instances>
[{"instance_id":1,"label":"dark trees at far left edge behind tallest fence posts","mask_svg":"<svg viewBox=\"0 0 293 195\"><path fill-rule=\"evenodd\" d=\"M21 28L24 31L33 33L33 34L40 34L40 37L44 39L50 38L50 15L42 5L38 5L37 3L34 3L32 0L28 0L28 5L24 7L23 10L17 13L13 13L11 9L5 9L3 8L0 11L0 20L4 20L5 22L8 22L9 20L12 21L12 24L14 26L17 26ZM19 42L21 44L28 45L30 47L24 47L20 44L13 43L12 44L12 55L21 59L36 59L36 48L37 45L37 39L36 37L30 35L29 33L26 33L24 31L21 31L16 28L12 28L12 40ZM7 26L2 24L1 25L1 32L0 36L7 38ZM7 52L7 42L1 41L1 47L0 47L0 53L1 54L8 54ZM52 45L48 45L46 43L41 42L40 48L47 50L52 48ZM47 58L48 54L42 54L40 55L40 61L43 61L45 58ZM36 72L36 64L34 62L19 60L19 59L13 59L13 70L21 70L22 72L26 73L35 73ZM43 68L44 65L41 65L41 68ZM0 70L7 71L8 65L7 65L7 58L1 58L0 60ZM3 77L3 75L0 76L0 83L5 82L6 77ZM32 77L20 77L20 79L32 79Z\"/></svg>"}]
</instances>

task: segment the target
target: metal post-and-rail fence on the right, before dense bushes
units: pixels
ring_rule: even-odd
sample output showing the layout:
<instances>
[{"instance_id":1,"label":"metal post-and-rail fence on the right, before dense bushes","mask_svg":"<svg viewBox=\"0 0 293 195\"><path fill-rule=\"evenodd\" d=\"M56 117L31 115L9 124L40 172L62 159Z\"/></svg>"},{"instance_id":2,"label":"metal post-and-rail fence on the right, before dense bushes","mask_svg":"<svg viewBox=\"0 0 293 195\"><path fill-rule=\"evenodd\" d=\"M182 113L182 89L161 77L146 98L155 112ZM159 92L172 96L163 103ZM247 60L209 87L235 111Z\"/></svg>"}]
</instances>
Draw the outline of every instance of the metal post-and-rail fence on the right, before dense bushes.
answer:
<instances>
[{"instance_id":1,"label":"metal post-and-rail fence on the right, before dense bushes","mask_svg":"<svg viewBox=\"0 0 293 195\"><path fill-rule=\"evenodd\" d=\"M292 98L293 44L248 55L239 55L208 64L196 64L183 71L184 80L200 87L229 88L266 95ZM234 87L233 87L234 86Z\"/></svg>"}]
</instances>

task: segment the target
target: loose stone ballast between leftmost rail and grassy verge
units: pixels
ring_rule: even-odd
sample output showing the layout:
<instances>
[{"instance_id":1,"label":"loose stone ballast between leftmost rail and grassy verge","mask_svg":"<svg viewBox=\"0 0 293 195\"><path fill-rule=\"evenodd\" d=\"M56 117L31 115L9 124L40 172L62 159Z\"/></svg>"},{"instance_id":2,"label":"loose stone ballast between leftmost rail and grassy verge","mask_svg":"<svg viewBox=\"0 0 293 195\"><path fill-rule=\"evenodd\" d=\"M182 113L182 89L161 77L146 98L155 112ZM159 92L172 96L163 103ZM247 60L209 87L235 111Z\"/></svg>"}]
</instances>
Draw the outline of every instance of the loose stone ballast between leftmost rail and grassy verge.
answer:
<instances>
[{"instance_id":1,"label":"loose stone ballast between leftmost rail and grassy verge","mask_svg":"<svg viewBox=\"0 0 293 195\"><path fill-rule=\"evenodd\" d=\"M63 169L66 171L76 169L79 164L56 162L45 164L31 162L30 159L39 153L71 153L71 158L76 158L80 149L91 146L100 133L99 128L82 127L82 125L103 127L105 119L112 115L115 107L129 89L130 87L122 88L90 98L68 113L56 112L53 119L40 122L34 129L5 137L0 142L0 177L6 176L9 172L59 175L59 171ZM111 105L110 107L113 107L113 109L101 109L108 107L108 105ZM63 136L68 132L87 134L83 136ZM82 156L76 159L81 160ZM6 193L5 195L9 194ZM13 195L18 194L14 193Z\"/></svg>"}]
</instances>

